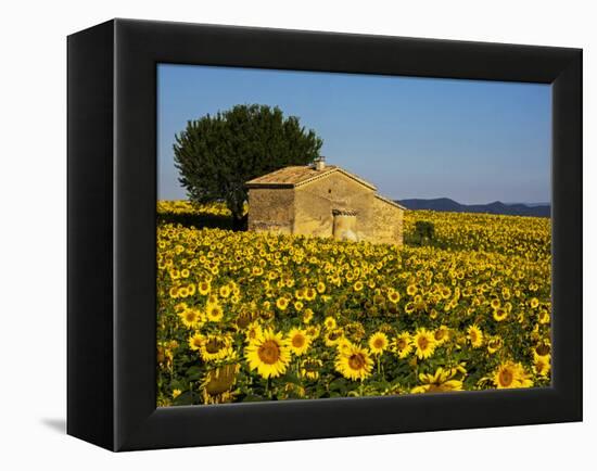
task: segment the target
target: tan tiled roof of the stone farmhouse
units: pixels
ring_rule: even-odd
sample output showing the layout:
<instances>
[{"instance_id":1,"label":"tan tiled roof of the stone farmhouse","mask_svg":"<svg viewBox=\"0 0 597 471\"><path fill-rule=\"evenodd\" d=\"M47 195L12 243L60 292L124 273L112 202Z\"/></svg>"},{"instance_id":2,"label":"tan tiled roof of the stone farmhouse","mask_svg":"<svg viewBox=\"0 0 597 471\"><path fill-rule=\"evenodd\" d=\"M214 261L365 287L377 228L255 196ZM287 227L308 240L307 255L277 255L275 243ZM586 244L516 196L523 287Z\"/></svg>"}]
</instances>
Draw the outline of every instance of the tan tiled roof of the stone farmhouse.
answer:
<instances>
[{"instance_id":1,"label":"tan tiled roof of the stone farmhouse","mask_svg":"<svg viewBox=\"0 0 597 471\"><path fill-rule=\"evenodd\" d=\"M360 184L376 190L376 187L368 181L353 175L343 168L335 165L326 165L321 170L317 170L310 165L284 167L262 177L254 178L246 182L247 188L255 187L281 187L281 188L294 188L308 183L320 178L328 177L336 171L358 181Z\"/></svg>"}]
</instances>

